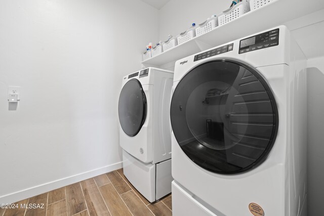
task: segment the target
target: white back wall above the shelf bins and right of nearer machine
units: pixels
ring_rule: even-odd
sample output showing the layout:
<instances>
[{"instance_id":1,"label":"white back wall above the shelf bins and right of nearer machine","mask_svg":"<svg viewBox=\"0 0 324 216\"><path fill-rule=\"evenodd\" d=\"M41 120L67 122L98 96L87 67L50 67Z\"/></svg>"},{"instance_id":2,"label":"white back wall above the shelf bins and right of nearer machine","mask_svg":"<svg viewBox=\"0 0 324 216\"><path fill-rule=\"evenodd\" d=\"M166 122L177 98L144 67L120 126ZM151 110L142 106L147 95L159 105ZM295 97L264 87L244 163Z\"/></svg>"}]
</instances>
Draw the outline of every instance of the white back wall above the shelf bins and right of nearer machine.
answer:
<instances>
[{"instance_id":1,"label":"white back wall above the shelf bins and right of nearer machine","mask_svg":"<svg viewBox=\"0 0 324 216\"><path fill-rule=\"evenodd\" d=\"M229 8L231 1L202 0L199 2L171 0L160 10L159 37L166 40L168 34L176 36L188 29L192 22L199 24L212 14ZM313 14L292 20L287 25L292 35L308 58L308 215L318 215L324 211L324 13L318 8ZM239 29L237 29L239 30Z\"/></svg>"}]
</instances>

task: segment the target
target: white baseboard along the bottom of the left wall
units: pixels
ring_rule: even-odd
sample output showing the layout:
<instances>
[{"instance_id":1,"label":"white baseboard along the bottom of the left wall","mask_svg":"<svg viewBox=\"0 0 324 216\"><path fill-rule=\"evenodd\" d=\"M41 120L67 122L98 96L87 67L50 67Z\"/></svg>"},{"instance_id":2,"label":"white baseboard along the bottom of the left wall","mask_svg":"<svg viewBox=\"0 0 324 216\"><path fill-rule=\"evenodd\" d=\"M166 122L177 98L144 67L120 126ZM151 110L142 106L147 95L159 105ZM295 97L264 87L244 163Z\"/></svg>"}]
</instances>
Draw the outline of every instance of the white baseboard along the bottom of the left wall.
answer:
<instances>
[{"instance_id":1,"label":"white baseboard along the bottom of the left wall","mask_svg":"<svg viewBox=\"0 0 324 216\"><path fill-rule=\"evenodd\" d=\"M59 179L53 182L48 182L42 185L38 185L32 188L27 188L21 191L17 191L11 194L7 194L0 197L0 204L1 203L14 203L23 199L27 199L29 197L33 197L42 193L46 193L57 188L61 188L67 185L74 184L76 182L80 182L86 179L93 178L95 176L99 176L105 174L106 172L110 172L119 168L123 167L123 161L118 163L114 163L108 166L104 166L101 168L93 169L90 171L86 171L74 176L66 177L63 179Z\"/></svg>"}]
</instances>

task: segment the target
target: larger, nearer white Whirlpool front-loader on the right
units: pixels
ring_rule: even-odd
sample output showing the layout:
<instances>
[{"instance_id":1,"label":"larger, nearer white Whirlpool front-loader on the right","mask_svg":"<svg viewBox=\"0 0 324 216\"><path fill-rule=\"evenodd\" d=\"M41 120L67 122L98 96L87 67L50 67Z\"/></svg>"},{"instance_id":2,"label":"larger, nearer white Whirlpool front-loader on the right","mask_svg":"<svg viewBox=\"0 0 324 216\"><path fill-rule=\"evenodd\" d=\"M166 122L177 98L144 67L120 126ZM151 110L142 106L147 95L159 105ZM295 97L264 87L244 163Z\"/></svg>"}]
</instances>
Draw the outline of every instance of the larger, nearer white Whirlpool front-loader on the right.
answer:
<instances>
[{"instance_id":1,"label":"larger, nearer white Whirlpool front-loader on the right","mask_svg":"<svg viewBox=\"0 0 324 216\"><path fill-rule=\"evenodd\" d=\"M306 215L305 68L285 26L176 62L173 215Z\"/></svg>"}]
</instances>

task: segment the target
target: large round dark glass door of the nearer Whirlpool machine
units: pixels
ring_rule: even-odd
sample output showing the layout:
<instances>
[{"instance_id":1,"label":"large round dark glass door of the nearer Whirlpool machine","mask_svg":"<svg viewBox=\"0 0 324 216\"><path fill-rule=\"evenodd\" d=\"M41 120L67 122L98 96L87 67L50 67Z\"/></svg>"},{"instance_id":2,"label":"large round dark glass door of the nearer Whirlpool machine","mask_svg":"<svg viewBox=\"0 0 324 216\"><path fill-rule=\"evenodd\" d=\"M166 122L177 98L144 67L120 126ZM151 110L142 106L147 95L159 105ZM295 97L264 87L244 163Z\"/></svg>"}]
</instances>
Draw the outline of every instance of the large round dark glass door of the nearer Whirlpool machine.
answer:
<instances>
[{"instance_id":1,"label":"large round dark glass door of the nearer Whirlpool machine","mask_svg":"<svg viewBox=\"0 0 324 216\"><path fill-rule=\"evenodd\" d=\"M171 123L193 162L235 174L269 154L278 115L273 94L255 69L221 60L201 64L180 80L171 102Z\"/></svg>"}]
</instances>

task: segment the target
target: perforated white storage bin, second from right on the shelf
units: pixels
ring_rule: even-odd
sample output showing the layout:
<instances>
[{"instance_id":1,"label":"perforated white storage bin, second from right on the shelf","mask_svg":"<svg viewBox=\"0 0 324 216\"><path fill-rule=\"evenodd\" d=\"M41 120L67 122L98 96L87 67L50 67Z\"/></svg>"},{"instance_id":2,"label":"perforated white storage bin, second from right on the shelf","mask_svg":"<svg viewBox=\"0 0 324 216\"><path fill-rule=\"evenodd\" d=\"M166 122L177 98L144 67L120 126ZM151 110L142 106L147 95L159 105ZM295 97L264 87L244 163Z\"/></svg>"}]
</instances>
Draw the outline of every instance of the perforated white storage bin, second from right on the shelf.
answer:
<instances>
[{"instance_id":1,"label":"perforated white storage bin, second from right on the shelf","mask_svg":"<svg viewBox=\"0 0 324 216\"><path fill-rule=\"evenodd\" d=\"M218 25L223 25L250 11L248 1L240 2L218 16Z\"/></svg>"}]
</instances>

